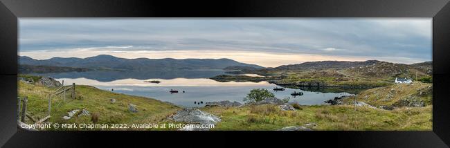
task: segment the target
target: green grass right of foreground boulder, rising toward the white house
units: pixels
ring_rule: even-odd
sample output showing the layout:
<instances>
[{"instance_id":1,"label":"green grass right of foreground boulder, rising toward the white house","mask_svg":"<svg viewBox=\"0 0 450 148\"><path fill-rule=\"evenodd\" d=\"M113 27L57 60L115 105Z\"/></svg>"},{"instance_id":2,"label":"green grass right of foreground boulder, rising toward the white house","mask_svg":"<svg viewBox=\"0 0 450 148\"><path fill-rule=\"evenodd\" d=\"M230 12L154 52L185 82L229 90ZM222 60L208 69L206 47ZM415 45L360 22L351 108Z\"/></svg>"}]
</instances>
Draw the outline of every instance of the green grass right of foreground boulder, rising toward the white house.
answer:
<instances>
[{"instance_id":1,"label":"green grass right of foreground boulder, rising toward the white house","mask_svg":"<svg viewBox=\"0 0 450 148\"><path fill-rule=\"evenodd\" d=\"M296 111L282 111L273 104L246 105L244 107L206 107L201 110L219 115L213 130L277 130L288 126L310 127L314 130L432 130L432 86L422 82L394 84L362 91L357 100L379 107L395 106L393 110L357 107L343 99L343 105L300 106L291 104ZM400 100L420 100L424 107L398 106Z\"/></svg>"}]
</instances>

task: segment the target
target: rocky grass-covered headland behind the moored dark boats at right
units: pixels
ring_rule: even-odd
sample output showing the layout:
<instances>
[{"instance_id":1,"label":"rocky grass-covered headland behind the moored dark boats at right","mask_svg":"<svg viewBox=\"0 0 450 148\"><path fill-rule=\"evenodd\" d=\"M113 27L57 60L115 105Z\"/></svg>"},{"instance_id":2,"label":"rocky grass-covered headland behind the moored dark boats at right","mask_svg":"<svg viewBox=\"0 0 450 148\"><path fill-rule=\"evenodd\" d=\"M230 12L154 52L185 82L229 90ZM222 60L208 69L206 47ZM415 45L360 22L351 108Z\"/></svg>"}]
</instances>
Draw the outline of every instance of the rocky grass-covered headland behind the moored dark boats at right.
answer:
<instances>
[{"instance_id":1,"label":"rocky grass-covered headland behind the moored dark boats at right","mask_svg":"<svg viewBox=\"0 0 450 148\"><path fill-rule=\"evenodd\" d=\"M394 84L395 77L408 77L422 82L431 82L432 62L418 64L395 64L390 62L305 62L244 71L270 77L285 77L273 80L276 84L296 86L367 86L379 87ZM238 77L237 77L238 78ZM236 79L237 79L236 78ZM228 77L232 80L232 77Z\"/></svg>"}]
</instances>

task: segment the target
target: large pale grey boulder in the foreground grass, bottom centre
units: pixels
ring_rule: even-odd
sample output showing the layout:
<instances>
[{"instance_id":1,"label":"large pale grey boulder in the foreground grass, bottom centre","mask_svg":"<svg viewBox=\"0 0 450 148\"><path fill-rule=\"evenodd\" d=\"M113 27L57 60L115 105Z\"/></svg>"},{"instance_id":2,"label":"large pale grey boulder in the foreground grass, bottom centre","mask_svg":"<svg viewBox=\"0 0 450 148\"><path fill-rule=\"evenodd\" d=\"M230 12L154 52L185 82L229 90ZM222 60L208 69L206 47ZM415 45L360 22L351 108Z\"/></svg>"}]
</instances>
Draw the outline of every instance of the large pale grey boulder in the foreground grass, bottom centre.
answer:
<instances>
[{"instance_id":1,"label":"large pale grey boulder in the foreground grass, bottom centre","mask_svg":"<svg viewBox=\"0 0 450 148\"><path fill-rule=\"evenodd\" d=\"M172 116L177 122L188 122L191 124L216 124L220 118L216 115L200 111L199 109L183 109Z\"/></svg>"}]
</instances>

